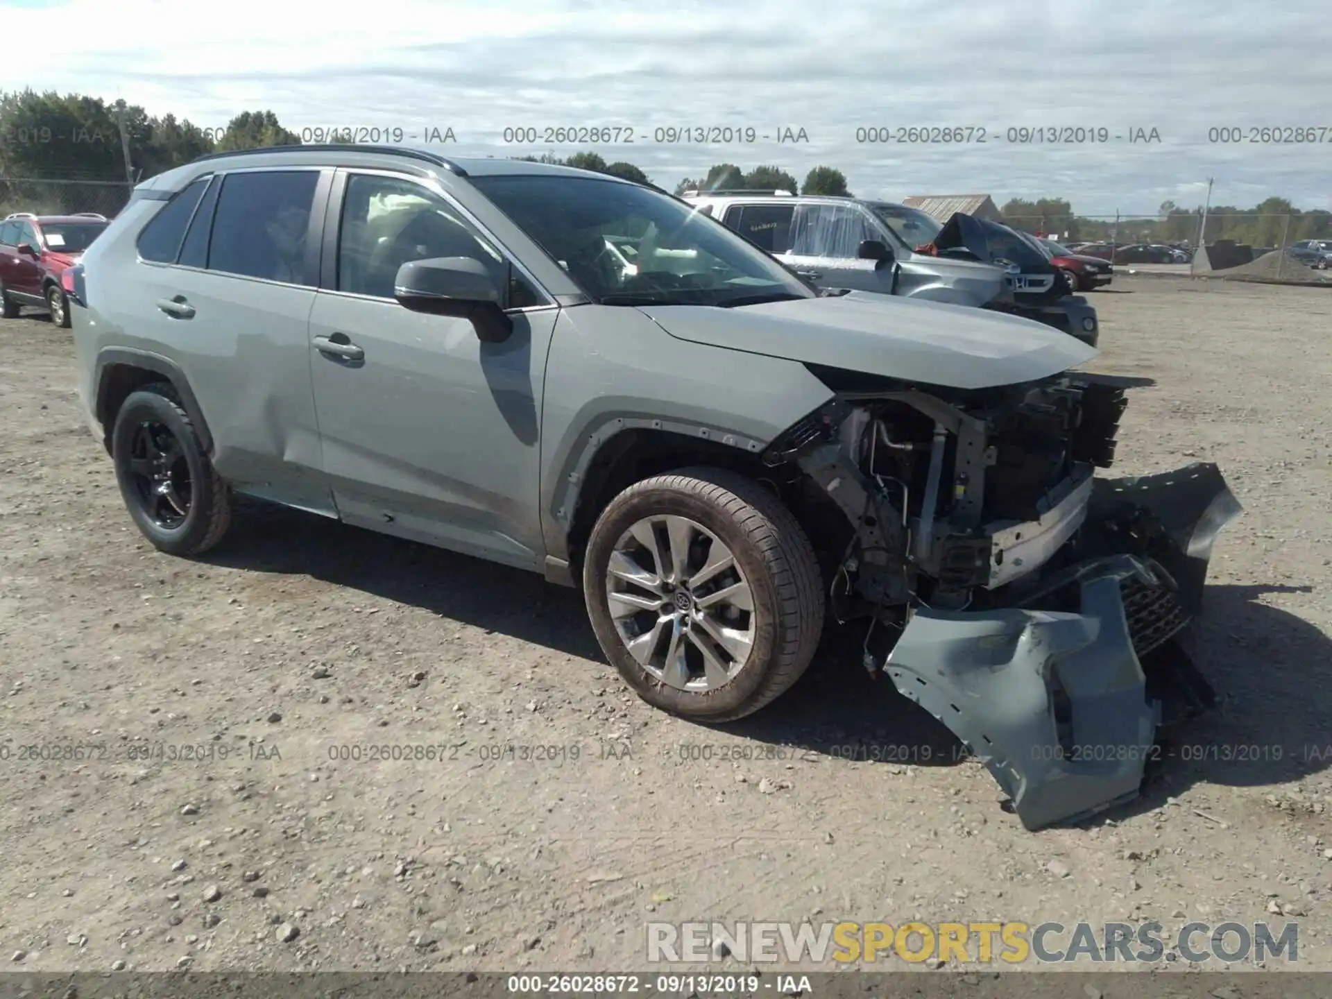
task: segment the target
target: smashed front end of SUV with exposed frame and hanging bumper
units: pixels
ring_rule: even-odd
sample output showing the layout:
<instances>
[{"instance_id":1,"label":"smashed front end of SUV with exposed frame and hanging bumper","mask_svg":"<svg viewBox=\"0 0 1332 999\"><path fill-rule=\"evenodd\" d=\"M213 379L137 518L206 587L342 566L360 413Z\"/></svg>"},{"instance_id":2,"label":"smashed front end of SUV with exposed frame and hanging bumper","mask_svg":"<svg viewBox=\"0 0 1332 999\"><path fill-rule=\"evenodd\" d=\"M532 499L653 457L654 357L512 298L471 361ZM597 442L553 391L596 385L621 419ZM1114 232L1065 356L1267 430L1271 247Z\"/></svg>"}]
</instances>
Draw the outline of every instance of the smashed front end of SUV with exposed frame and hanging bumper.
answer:
<instances>
[{"instance_id":1,"label":"smashed front end of SUV with exposed frame and hanging bumper","mask_svg":"<svg viewBox=\"0 0 1332 999\"><path fill-rule=\"evenodd\" d=\"M868 619L866 667L1027 829L1136 797L1167 706L1212 699L1179 639L1240 509L1217 468L1095 477L1126 398L1091 374L966 390L811 370L836 396L763 458L846 515L830 599Z\"/></svg>"}]
</instances>

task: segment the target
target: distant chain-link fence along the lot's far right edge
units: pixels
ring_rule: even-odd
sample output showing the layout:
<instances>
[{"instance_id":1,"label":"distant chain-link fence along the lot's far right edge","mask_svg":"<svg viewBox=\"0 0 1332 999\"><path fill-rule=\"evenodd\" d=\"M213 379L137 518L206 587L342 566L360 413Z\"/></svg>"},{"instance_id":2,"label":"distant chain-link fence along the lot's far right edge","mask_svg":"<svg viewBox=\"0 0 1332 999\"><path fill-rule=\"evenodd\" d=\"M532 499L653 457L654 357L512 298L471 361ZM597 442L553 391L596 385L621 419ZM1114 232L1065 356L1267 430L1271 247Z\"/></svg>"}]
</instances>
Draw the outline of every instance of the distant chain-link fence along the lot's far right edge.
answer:
<instances>
[{"instance_id":1,"label":"distant chain-link fence along the lot's far right edge","mask_svg":"<svg viewBox=\"0 0 1332 999\"><path fill-rule=\"evenodd\" d=\"M1144 272L1332 282L1332 214L1171 212L1006 216L1007 225ZM1203 248L1199 252L1199 246Z\"/></svg>"}]
</instances>

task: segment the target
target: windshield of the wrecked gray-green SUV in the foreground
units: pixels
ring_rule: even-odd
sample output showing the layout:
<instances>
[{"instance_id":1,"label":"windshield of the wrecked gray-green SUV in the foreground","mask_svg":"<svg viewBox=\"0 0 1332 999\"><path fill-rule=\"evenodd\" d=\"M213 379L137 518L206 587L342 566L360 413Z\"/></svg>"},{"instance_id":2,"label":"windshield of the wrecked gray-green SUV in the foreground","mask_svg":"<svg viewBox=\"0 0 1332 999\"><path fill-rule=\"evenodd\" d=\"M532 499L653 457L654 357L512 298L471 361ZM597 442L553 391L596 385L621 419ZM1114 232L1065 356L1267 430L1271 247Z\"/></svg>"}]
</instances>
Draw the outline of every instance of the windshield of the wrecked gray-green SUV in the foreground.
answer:
<instances>
[{"instance_id":1,"label":"windshield of the wrecked gray-green SUV in the foreground","mask_svg":"<svg viewBox=\"0 0 1332 999\"><path fill-rule=\"evenodd\" d=\"M553 174L470 180L605 305L729 306L818 296L721 222L657 190Z\"/></svg>"}]
</instances>

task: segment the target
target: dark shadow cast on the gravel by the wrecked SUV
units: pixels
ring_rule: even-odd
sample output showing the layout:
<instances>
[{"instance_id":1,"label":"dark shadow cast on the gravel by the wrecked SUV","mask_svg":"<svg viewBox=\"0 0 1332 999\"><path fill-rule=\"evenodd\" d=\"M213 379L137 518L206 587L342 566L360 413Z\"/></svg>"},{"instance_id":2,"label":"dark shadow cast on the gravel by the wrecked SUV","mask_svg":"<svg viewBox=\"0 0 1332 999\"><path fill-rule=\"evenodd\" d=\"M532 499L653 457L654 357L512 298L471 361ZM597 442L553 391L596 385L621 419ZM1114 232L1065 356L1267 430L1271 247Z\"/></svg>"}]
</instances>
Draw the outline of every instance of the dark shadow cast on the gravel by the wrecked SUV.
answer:
<instances>
[{"instance_id":1,"label":"dark shadow cast on the gravel by the wrecked SUV","mask_svg":"<svg viewBox=\"0 0 1332 999\"><path fill-rule=\"evenodd\" d=\"M258 573L304 574L422 607L448 621L605 663L581 595L535 573L245 502L228 543L204 561ZM1163 745L1138 801L1107 818L1159 807L1193 783L1285 783L1332 766L1332 639L1261 602L1300 586L1212 585L1197 622L1196 662L1220 705ZM954 766L956 737L860 666L863 622L829 623L814 662L773 705L726 733L774 746L886 766ZM703 726L699 726L701 729Z\"/></svg>"}]
</instances>

